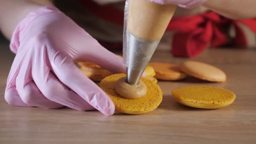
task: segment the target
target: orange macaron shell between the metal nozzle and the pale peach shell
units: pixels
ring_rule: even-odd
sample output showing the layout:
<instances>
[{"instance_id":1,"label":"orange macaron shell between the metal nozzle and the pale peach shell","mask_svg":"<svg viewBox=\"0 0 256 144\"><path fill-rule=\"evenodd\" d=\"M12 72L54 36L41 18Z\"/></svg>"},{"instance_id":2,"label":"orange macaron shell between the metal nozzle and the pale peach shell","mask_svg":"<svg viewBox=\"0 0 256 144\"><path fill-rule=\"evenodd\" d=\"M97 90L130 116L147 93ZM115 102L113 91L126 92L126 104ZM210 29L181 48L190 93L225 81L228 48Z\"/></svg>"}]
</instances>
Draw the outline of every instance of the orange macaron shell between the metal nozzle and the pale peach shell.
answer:
<instances>
[{"instance_id":1,"label":"orange macaron shell between the metal nozzle and the pale peach shell","mask_svg":"<svg viewBox=\"0 0 256 144\"><path fill-rule=\"evenodd\" d=\"M149 66L155 69L155 77L159 80L182 80L187 76L175 64L151 62Z\"/></svg>"}]
</instances>

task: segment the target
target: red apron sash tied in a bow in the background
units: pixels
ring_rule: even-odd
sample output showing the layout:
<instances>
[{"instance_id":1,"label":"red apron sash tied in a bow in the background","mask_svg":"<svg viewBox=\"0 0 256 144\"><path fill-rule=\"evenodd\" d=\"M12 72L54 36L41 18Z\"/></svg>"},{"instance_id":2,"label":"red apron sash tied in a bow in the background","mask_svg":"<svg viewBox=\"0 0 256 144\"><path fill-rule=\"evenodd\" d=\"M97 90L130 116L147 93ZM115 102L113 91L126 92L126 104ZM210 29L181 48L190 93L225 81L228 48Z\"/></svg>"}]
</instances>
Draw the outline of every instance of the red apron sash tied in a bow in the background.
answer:
<instances>
[{"instance_id":1,"label":"red apron sash tied in a bow in the background","mask_svg":"<svg viewBox=\"0 0 256 144\"><path fill-rule=\"evenodd\" d=\"M111 5L98 5L91 0L80 1L101 19L123 26L123 11ZM166 29L167 31L176 31L173 37L172 53L174 56L195 57L202 53L208 45L211 47L227 45L230 43L230 37L225 31L231 25L235 26L236 33L233 44L245 48L247 40L243 30L238 25L239 22L245 24L256 33L256 18L232 20L213 11L195 16L173 18Z\"/></svg>"}]
</instances>

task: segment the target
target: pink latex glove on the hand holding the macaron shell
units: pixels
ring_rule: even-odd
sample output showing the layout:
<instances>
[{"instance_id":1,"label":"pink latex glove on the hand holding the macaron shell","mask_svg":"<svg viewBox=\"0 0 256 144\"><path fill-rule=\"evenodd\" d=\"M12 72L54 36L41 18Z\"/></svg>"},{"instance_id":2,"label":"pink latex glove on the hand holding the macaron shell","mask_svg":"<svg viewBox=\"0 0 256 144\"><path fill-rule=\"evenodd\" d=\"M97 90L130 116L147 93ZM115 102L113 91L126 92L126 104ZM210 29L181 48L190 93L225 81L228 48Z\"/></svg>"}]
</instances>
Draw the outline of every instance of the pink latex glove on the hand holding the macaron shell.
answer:
<instances>
[{"instance_id":1,"label":"pink latex glove on the hand holding the macaron shell","mask_svg":"<svg viewBox=\"0 0 256 144\"><path fill-rule=\"evenodd\" d=\"M98 109L112 115L115 106L73 61L91 61L113 73L125 72L122 59L103 48L55 7L29 13L11 39L16 53L5 90L9 104L77 110Z\"/></svg>"}]
</instances>

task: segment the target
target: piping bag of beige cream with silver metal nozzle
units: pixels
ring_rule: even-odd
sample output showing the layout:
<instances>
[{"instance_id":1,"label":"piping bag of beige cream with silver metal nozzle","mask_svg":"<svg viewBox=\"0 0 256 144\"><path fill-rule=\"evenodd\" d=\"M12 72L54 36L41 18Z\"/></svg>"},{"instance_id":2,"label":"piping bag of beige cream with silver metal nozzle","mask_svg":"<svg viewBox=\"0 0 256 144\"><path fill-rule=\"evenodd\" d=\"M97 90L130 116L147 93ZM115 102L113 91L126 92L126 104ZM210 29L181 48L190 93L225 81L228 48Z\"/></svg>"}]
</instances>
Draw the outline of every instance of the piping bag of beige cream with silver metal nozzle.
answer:
<instances>
[{"instance_id":1,"label":"piping bag of beige cream with silver metal nozzle","mask_svg":"<svg viewBox=\"0 0 256 144\"><path fill-rule=\"evenodd\" d=\"M126 0L123 63L127 68L127 83L138 83L175 9L176 5L160 5L148 0Z\"/></svg>"}]
</instances>

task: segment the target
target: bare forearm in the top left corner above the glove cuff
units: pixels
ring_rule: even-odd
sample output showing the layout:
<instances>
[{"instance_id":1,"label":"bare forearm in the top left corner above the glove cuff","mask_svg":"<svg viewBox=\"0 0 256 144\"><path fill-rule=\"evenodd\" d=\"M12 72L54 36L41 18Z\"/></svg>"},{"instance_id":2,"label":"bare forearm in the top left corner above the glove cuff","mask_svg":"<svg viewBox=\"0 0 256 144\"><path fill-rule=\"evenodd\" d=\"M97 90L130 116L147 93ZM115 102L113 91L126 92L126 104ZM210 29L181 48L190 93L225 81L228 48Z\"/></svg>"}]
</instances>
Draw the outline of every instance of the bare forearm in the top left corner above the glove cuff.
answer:
<instances>
[{"instance_id":1,"label":"bare forearm in the top left corner above the glove cuff","mask_svg":"<svg viewBox=\"0 0 256 144\"><path fill-rule=\"evenodd\" d=\"M51 0L0 0L0 31L8 40L27 13L36 8L53 5Z\"/></svg>"}]
</instances>

